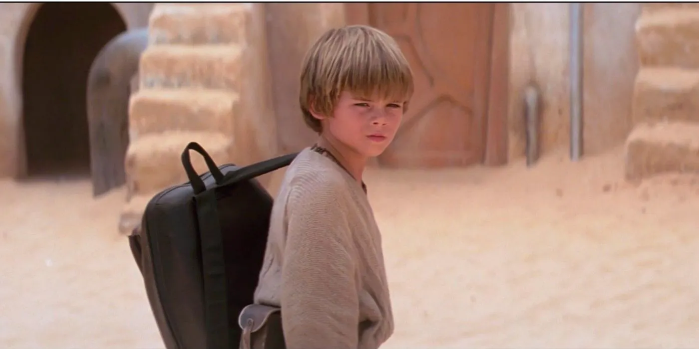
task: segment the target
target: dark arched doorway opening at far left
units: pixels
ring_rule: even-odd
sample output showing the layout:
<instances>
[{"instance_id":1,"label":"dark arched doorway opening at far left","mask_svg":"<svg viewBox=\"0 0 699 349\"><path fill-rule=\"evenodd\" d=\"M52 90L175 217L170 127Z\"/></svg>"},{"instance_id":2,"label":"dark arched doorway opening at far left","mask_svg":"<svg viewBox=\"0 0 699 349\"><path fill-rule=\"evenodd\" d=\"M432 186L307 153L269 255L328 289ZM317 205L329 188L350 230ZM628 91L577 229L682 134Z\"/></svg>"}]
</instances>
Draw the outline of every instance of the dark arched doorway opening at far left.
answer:
<instances>
[{"instance_id":1,"label":"dark arched doorway opening at far left","mask_svg":"<svg viewBox=\"0 0 699 349\"><path fill-rule=\"evenodd\" d=\"M110 3L44 3L37 10L22 65L28 177L89 176L87 75L99 50L125 30Z\"/></svg>"}]
</instances>

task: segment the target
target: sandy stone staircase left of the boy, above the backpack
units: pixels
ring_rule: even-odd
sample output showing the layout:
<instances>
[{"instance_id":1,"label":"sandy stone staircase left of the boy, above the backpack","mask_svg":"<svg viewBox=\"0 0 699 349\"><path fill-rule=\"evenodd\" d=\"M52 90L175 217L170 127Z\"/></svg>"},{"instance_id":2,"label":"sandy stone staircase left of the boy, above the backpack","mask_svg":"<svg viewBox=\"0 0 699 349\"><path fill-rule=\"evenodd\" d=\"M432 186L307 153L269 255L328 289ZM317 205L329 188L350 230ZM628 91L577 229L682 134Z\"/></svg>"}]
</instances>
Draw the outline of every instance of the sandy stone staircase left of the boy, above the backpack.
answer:
<instances>
[{"instance_id":1,"label":"sandy stone staircase left of the boy, above the backpack","mask_svg":"<svg viewBox=\"0 0 699 349\"><path fill-rule=\"evenodd\" d=\"M129 103L122 233L140 224L155 193L187 181L180 160L187 143L199 142L219 165L277 151L259 5L157 3L149 36ZM192 163L208 171L194 152Z\"/></svg>"}]
</instances>

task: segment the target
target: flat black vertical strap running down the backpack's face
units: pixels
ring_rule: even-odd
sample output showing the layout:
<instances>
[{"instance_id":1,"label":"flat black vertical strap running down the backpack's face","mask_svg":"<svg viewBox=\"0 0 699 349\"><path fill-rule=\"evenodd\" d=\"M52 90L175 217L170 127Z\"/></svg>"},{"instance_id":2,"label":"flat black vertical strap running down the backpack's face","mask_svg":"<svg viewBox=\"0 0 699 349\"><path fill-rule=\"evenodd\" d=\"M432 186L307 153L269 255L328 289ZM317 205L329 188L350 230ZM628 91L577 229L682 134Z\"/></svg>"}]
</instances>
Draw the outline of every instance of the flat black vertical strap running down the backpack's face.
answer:
<instances>
[{"instance_id":1,"label":"flat black vertical strap running down the backpack's face","mask_svg":"<svg viewBox=\"0 0 699 349\"><path fill-rule=\"evenodd\" d=\"M233 346L228 326L226 266L216 191L203 191L196 195L195 200L201 239L206 349L229 349Z\"/></svg>"}]
</instances>

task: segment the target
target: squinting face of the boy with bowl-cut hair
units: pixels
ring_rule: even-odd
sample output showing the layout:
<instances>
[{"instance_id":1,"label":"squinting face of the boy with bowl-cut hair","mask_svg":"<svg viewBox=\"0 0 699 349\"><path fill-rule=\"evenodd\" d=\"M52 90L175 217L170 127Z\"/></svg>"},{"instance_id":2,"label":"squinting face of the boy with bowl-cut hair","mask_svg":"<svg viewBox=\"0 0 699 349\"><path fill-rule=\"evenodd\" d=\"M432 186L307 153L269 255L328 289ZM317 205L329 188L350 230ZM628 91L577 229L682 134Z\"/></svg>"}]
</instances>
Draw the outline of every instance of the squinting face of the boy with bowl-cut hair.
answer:
<instances>
[{"instance_id":1,"label":"squinting face of the boy with bowl-cut hair","mask_svg":"<svg viewBox=\"0 0 699 349\"><path fill-rule=\"evenodd\" d=\"M340 94L332 117L321 119L323 133L366 157L379 156L393 141L403 120L403 102ZM328 134L329 133L329 134Z\"/></svg>"}]
</instances>

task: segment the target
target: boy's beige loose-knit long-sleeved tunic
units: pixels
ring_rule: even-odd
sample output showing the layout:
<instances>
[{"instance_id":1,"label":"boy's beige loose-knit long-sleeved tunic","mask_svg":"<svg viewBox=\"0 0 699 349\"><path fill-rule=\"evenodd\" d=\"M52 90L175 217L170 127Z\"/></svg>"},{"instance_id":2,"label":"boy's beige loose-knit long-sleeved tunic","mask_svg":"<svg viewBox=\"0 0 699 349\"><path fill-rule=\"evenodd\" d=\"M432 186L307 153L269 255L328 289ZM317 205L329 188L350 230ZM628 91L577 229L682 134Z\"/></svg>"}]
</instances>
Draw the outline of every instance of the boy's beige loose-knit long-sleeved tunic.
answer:
<instances>
[{"instance_id":1,"label":"boy's beige loose-knit long-sleeved tunic","mask_svg":"<svg viewBox=\"0 0 699 349\"><path fill-rule=\"evenodd\" d=\"M381 235L361 185L304 149L275 199L254 300L289 349L375 349L394 331Z\"/></svg>"}]
</instances>

